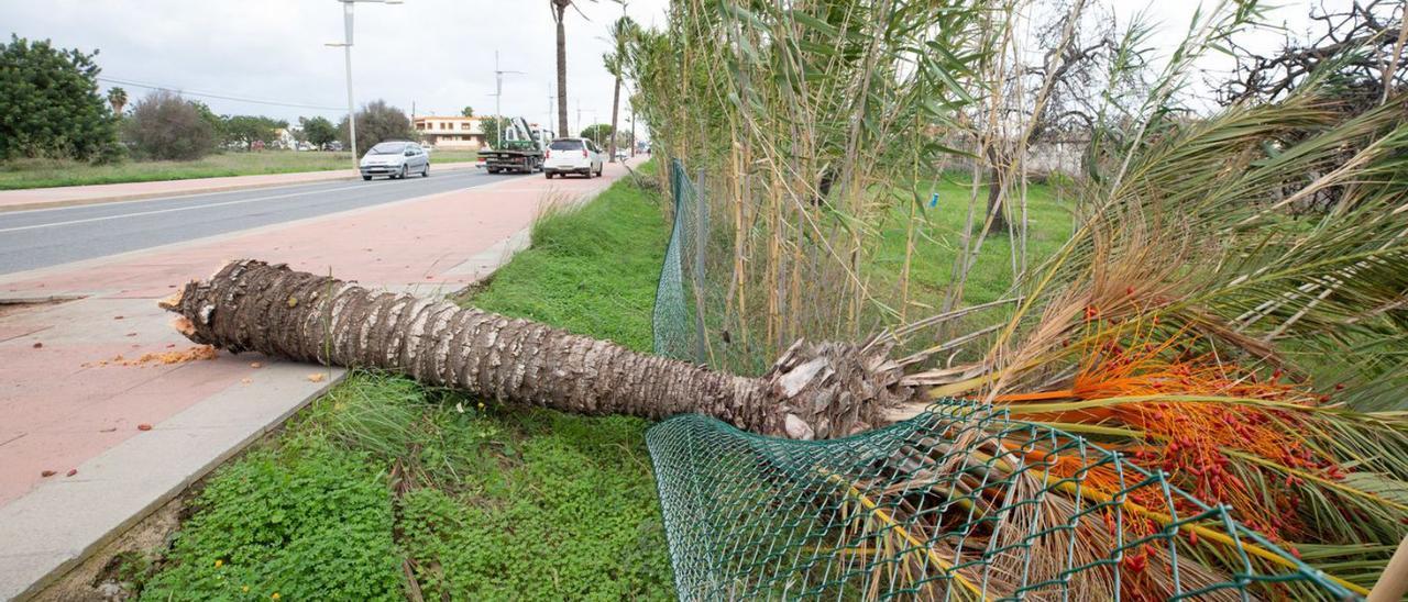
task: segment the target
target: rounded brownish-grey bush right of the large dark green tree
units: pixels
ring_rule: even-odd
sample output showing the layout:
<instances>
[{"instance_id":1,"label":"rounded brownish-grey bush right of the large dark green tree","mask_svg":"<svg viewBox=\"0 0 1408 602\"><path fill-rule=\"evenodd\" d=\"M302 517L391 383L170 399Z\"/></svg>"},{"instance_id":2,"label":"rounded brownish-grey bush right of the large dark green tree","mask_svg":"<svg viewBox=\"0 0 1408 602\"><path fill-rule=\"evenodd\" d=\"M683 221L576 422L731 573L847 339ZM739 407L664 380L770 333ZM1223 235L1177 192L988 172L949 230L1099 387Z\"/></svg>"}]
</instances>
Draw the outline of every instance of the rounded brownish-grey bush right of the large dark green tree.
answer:
<instances>
[{"instance_id":1,"label":"rounded brownish-grey bush right of the large dark green tree","mask_svg":"<svg viewBox=\"0 0 1408 602\"><path fill-rule=\"evenodd\" d=\"M137 101L124 135L145 159L194 160L215 149L215 128L194 103L169 91Z\"/></svg>"}]
</instances>

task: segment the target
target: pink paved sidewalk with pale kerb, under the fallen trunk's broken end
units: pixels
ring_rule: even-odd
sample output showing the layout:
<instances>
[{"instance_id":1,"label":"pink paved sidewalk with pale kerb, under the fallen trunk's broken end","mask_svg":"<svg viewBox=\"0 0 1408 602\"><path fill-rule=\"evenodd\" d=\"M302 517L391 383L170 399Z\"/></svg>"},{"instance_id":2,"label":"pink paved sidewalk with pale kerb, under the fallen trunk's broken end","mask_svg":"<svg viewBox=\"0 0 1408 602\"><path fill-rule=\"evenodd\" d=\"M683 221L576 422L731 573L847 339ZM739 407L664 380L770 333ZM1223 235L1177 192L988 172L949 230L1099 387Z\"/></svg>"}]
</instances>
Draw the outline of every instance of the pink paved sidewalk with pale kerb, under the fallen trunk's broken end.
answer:
<instances>
[{"instance_id":1,"label":"pink paved sidewalk with pale kerb, under the fallen trunk's broken end","mask_svg":"<svg viewBox=\"0 0 1408 602\"><path fill-rule=\"evenodd\" d=\"M35 594L342 376L253 354L183 357L193 346L159 298L235 257L459 290L527 245L542 203L624 172L500 180L0 277L0 599ZM14 305L25 300L45 302Z\"/></svg>"}]
</instances>

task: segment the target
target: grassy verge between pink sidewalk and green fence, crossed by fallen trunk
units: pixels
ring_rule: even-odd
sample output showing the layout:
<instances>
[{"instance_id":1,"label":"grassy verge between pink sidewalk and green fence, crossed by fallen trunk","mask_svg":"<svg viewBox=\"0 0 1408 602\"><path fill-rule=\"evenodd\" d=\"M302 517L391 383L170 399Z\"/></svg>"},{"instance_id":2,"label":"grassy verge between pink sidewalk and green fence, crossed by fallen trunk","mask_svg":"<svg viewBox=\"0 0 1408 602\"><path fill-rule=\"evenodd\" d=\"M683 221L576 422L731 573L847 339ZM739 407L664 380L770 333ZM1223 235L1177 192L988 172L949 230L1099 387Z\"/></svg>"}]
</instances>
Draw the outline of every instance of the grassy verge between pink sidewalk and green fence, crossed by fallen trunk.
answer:
<instances>
[{"instance_id":1,"label":"grassy verge between pink sidewalk and green fence, crossed by fallen trunk","mask_svg":"<svg viewBox=\"0 0 1408 602\"><path fill-rule=\"evenodd\" d=\"M666 225L624 183L466 300L650 346ZM220 468L144 599L669 599L648 423L355 374Z\"/></svg>"}]
</instances>

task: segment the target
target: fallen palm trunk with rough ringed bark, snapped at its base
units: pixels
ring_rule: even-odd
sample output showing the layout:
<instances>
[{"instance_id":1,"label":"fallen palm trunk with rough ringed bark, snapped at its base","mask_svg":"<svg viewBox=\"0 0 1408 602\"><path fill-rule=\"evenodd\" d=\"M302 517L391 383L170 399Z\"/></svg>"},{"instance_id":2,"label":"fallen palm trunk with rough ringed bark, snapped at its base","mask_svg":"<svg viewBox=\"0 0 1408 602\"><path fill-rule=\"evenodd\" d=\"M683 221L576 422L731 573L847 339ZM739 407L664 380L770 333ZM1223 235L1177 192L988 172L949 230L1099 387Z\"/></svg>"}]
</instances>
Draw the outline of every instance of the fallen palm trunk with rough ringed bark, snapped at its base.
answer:
<instances>
[{"instance_id":1,"label":"fallen palm trunk with rough ringed bark, snapped at its base","mask_svg":"<svg viewBox=\"0 0 1408 602\"><path fill-rule=\"evenodd\" d=\"M917 398L887 346L798 342L760 378L708 370L448 301L372 291L256 260L191 281L162 307L231 353L389 370L424 384L577 414L698 412L794 439L843 436Z\"/></svg>"}]
</instances>

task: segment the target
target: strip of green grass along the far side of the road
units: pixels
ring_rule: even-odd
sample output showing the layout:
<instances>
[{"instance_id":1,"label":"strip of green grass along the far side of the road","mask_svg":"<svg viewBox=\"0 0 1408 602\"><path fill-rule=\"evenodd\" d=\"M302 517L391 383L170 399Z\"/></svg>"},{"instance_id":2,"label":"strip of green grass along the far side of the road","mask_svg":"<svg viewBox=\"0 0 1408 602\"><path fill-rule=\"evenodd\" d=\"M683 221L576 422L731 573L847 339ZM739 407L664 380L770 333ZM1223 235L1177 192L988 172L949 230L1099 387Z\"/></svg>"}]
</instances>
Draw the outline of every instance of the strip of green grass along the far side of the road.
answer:
<instances>
[{"instance_id":1,"label":"strip of green grass along the far side of the road","mask_svg":"<svg viewBox=\"0 0 1408 602\"><path fill-rule=\"evenodd\" d=\"M431 163L472 162L476 156L474 150L435 150L431 153ZM0 163L0 190L324 172L351 167L351 153L311 150L224 152L199 160L128 160L113 165L18 159Z\"/></svg>"}]
</instances>

